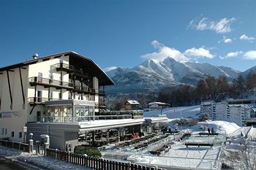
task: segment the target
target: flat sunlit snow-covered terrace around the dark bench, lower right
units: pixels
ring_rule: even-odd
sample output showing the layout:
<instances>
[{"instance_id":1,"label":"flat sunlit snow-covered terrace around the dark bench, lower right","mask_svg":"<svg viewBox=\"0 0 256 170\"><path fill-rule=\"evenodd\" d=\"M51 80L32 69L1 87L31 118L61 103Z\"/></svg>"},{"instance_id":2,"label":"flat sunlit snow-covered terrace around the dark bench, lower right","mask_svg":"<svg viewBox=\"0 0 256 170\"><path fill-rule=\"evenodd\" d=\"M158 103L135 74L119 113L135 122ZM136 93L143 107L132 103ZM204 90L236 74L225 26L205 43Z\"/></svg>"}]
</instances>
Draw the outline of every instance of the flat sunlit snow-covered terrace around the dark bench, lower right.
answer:
<instances>
[{"instance_id":1,"label":"flat sunlit snow-covered terrace around the dark bench, lower right","mask_svg":"<svg viewBox=\"0 0 256 170\"><path fill-rule=\"evenodd\" d=\"M213 141L213 138L213 136L206 136L201 137L200 140L208 142L208 140ZM214 147L186 147L184 142L176 142L171 144L171 148L166 152L162 152L160 156L135 154L130 155L127 160L159 166L164 169L173 169L175 167L184 169L219 169L220 152L222 152L221 143L214 142Z\"/></svg>"}]
</instances>

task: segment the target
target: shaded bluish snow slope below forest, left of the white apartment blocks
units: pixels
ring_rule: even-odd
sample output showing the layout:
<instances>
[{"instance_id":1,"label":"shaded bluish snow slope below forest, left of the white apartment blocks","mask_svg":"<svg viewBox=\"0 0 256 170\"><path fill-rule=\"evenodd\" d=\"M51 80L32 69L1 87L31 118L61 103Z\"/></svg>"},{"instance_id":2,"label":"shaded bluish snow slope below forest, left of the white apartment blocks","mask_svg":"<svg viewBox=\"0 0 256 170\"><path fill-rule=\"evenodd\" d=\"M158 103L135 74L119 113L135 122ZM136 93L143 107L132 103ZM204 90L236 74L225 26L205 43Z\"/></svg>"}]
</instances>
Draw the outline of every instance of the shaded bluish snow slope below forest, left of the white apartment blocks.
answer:
<instances>
[{"instance_id":1,"label":"shaded bluish snow slope below forest, left of the white apartment blocks","mask_svg":"<svg viewBox=\"0 0 256 170\"><path fill-rule=\"evenodd\" d=\"M166 115L169 119L180 117L198 117L200 113L200 105L192 107L168 107L162 110L162 115ZM161 110L143 112L144 117L159 117Z\"/></svg>"}]
</instances>

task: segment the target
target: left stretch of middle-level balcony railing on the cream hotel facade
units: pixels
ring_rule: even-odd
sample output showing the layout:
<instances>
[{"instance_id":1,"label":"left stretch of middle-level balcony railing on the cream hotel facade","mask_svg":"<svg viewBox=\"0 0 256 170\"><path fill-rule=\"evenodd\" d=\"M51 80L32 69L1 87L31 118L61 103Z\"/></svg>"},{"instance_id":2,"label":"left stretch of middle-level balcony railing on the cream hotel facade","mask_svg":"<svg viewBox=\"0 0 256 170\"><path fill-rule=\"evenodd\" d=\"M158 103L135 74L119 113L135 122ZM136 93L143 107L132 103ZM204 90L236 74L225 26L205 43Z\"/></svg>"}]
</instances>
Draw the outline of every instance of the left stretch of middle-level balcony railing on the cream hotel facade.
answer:
<instances>
[{"instance_id":1,"label":"left stretch of middle-level balcony railing on the cream hotel facade","mask_svg":"<svg viewBox=\"0 0 256 170\"><path fill-rule=\"evenodd\" d=\"M52 80L52 79L46 79L42 77L30 77L29 82L31 85L39 84L39 85L46 85L46 86L54 86L56 88L73 88L72 82L64 82L59 80Z\"/></svg>"}]
</instances>

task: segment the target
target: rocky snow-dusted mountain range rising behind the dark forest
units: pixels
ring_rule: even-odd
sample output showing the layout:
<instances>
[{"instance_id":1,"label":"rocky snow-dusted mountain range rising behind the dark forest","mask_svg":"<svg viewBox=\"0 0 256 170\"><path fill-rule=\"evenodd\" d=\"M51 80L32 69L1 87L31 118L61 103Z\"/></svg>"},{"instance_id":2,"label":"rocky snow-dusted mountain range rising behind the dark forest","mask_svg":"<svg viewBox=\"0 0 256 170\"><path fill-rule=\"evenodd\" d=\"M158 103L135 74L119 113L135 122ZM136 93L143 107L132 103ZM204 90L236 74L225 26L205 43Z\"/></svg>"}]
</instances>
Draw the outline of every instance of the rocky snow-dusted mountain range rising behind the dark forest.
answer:
<instances>
[{"instance_id":1,"label":"rocky snow-dusted mountain range rising behind the dark forest","mask_svg":"<svg viewBox=\"0 0 256 170\"><path fill-rule=\"evenodd\" d=\"M256 69L256 67L255 67ZM226 66L214 66L209 63L181 63L173 58L164 61L150 59L132 69L111 67L106 73L116 83L106 87L108 94L141 93L142 90L157 90L170 85L196 85L198 80L206 79L207 74L221 75L233 80L241 72Z\"/></svg>"}]
</instances>

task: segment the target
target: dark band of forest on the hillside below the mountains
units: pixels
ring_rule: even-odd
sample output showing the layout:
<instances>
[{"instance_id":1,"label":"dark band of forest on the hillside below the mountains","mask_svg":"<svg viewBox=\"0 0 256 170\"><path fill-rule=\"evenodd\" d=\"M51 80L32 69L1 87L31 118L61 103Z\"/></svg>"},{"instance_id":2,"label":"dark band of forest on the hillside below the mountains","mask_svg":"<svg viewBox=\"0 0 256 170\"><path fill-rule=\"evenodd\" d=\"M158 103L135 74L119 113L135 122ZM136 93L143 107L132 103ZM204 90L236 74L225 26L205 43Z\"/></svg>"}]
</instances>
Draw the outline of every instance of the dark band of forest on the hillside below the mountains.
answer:
<instances>
[{"instance_id":1,"label":"dark band of forest on the hillside below the mountains","mask_svg":"<svg viewBox=\"0 0 256 170\"><path fill-rule=\"evenodd\" d=\"M233 82L229 82L227 77L215 78L208 75L206 80L199 80L196 86L179 85L162 88L158 93L151 90L145 93L126 94L123 96L108 96L106 98L107 109L120 110L124 108L124 103L128 99L136 100L140 103L140 108L145 108L146 104L153 101L170 104L171 107L182 107L200 104L200 101L214 100L216 102L226 98L246 98L243 94L256 88L256 73L249 72L246 77L238 76Z\"/></svg>"}]
</instances>

